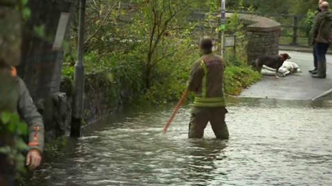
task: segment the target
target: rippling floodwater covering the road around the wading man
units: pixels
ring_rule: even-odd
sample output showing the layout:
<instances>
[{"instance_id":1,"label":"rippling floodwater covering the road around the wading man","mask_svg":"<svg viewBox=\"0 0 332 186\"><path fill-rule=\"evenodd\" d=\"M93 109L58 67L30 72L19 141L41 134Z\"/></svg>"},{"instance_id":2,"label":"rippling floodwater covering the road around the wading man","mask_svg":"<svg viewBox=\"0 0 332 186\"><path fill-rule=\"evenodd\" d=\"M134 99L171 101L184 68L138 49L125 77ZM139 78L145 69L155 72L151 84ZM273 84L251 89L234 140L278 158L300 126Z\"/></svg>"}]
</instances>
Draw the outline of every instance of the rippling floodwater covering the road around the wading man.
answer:
<instances>
[{"instance_id":1,"label":"rippling floodwater covering the road around the wading man","mask_svg":"<svg viewBox=\"0 0 332 186\"><path fill-rule=\"evenodd\" d=\"M24 185L332 185L332 99L234 99L228 141L188 139L190 107L110 116Z\"/></svg>"}]
</instances>

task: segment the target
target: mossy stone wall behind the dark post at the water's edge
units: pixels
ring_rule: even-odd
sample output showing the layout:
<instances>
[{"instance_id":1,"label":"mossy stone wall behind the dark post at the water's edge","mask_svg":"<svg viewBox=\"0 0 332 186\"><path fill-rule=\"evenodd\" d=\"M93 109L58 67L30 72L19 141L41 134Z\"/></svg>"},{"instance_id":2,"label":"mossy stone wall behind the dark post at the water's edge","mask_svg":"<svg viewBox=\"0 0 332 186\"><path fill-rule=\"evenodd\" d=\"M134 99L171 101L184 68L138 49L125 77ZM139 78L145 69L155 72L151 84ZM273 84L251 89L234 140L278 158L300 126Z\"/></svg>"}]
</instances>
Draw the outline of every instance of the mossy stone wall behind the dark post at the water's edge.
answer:
<instances>
[{"instance_id":1,"label":"mossy stone wall behind the dark post at the water's edge","mask_svg":"<svg viewBox=\"0 0 332 186\"><path fill-rule=\"evenodd\" d=\"M87 125L112 112L119 110L124 98L116 83L111 82L107 77L107 72L93 72L85 74L84 109L83 123ZM66 106L64 111L64 127L62 130L70 131L71 114L73 105L73 80L63 77L60 85L60 92L66 94Z\"/></svg>"}]
</instances>

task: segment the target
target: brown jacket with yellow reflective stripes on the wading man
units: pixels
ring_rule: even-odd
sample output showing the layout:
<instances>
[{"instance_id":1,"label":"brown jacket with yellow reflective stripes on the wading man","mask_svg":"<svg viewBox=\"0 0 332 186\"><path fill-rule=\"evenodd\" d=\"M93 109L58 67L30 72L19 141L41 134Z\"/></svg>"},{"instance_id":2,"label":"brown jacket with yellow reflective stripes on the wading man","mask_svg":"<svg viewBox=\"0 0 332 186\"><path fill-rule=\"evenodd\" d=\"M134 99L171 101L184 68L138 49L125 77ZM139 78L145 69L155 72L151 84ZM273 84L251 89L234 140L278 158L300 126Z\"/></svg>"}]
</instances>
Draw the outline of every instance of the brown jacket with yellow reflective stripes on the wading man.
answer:
<instances>
[{"instance_id":1,"label":"brown jacket with yellow reflective stripes on the wading man","mask_svg":"<svg viewBox=\"0 0 332 186\"><path fill-rule=\"evenodd\" d=\"M201 56L193 65L188 90L195 92L194 106L225 106L223 94L223 59L215 54Z\"/></svg>"}]
</instances>

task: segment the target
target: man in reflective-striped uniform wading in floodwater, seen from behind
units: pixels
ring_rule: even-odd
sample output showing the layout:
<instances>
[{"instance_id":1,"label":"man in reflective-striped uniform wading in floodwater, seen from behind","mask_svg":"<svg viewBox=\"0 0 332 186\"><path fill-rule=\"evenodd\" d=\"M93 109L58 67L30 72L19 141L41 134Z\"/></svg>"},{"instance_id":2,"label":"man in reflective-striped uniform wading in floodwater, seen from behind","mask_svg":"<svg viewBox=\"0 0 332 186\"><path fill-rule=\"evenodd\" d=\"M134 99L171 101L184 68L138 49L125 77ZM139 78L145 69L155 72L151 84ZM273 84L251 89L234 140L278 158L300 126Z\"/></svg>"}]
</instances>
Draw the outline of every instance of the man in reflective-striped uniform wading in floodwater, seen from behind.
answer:
<instances>
[{"instance_id":1,"label":"man in reflective-striped uniform wading in floodwater, seen from behind","mask_svg":"<svg viewBox=\"0 0 332 186\"><path fill-rule=\"evenodd\" d=\"M212 54L212 39L203 37L199 47L203 56L193 65L188 90L195 92L189 125L189 138L202 138L208 122L216 138L228 139L225 123L225 98L223 96L223 59Z\"/></svg>"}]
</instances>

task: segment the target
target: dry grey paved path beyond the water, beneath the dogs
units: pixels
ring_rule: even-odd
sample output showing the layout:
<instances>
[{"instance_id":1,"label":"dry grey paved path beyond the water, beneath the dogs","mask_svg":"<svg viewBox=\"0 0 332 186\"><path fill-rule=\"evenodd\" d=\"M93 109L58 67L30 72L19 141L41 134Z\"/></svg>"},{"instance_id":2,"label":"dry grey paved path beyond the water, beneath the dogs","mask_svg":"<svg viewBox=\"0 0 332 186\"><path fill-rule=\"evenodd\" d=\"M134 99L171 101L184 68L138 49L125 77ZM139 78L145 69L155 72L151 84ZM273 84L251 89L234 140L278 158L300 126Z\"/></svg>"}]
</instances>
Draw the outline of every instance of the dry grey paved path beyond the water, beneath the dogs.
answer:
<instances>
[{"instance_id":1,"label":"dry grey paved path beyond the water, beneath the dogs","mask_svg":"<svg viewBox=\"0 0 332 186\"><path fill-rule=\"evenodd\" d=\"M279 51L288 53L302 73L290 74L276 79L262 76L261 81L243 90L239 97L268 98L285 100L311 100L332 90L332 56L326 55L326 79L314 79L308 70L313 69L313 55L304 52Z\"/></svg>"}]
</instances>

